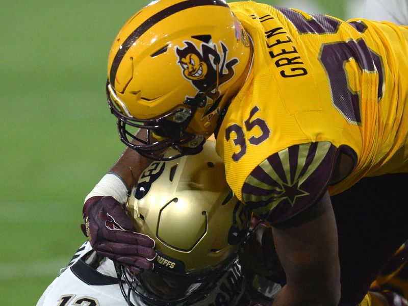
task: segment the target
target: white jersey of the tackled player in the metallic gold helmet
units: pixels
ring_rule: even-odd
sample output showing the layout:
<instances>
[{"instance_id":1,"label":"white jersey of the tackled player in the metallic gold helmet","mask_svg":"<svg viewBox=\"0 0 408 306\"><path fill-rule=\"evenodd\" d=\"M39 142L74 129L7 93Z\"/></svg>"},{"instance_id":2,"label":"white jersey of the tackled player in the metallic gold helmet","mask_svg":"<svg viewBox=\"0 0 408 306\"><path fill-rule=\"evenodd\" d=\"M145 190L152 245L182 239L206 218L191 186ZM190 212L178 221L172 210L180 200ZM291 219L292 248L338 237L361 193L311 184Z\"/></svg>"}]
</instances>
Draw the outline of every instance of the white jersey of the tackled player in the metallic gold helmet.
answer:
<instances>
[{"instance_id":1,"label":"white jersey of the tackled player in the metallic gold helmet","mask_svg":"<svg viewBox=\"0 0 408 306\"><path fill-rule=\"evenodd\" d=\"M127 306L120 291L113 262L104 259L97 268L93 268L95 258L96 253L90 244L84 243L68 267L45 290L37 306ZM216 288L194 305L245 306L244 294L245 282L241 266L236 261L220 278ZM132 297L135 305L147 306L136 295Z\"/></svg>"}]
</instances>

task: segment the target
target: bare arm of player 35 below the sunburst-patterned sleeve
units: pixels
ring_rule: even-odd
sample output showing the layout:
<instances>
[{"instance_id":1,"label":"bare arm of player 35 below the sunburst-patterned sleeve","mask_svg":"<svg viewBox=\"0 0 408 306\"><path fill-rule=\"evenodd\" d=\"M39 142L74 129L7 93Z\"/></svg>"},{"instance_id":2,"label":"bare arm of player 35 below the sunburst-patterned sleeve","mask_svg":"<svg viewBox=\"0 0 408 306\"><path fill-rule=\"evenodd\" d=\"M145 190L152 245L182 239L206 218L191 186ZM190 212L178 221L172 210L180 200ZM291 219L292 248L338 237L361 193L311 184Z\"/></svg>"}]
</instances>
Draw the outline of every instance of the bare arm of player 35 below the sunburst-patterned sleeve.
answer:
<instances>
[{"instance_id":1,"label":"bare arm of player 35 below the sunburst-patterned sleeve","mask_svg":"<svg viewBox=\"0 0 408 306\"><path fill-rule=\"evenodd\" d=\"M274 226L273 237L287 277L273 305L337 305L338 239L328 193L304 212Z\"/></svg>"}]
</instances>

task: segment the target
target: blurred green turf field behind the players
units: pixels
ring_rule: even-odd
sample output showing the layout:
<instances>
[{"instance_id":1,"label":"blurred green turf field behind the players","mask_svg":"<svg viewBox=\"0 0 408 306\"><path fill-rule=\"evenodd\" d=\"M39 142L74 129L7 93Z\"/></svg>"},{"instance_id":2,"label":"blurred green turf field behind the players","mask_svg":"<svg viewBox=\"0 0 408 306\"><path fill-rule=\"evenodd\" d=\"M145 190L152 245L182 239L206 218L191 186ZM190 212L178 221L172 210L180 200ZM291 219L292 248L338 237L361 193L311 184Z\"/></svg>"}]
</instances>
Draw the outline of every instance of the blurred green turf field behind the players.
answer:
<instances>
[{"instance_id":1,"label":"blurred green turf field behind the players","mask_svg":"<svg viewBox=\"0 0 408 306\"><path fill-rule=\"evenodd\" d=\"M148 1L1 3L0 305L35 305L84 241L83 198L124 149L107 55ZM345 15L344 1L316 5Z\"/></svg>"}]
</instances>

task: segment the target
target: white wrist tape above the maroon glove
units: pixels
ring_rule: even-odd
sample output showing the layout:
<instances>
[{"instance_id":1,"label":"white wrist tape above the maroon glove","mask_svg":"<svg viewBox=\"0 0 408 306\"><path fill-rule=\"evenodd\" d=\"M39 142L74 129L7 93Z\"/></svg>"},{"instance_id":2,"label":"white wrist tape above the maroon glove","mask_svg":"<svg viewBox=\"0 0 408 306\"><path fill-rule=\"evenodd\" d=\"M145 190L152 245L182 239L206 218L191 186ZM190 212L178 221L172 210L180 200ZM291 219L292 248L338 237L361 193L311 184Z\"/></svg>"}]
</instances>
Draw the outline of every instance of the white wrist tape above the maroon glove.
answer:
<instances>
[{"instance_id":1,"label":"white wrist tape above the maroon glove","mask_svg":"<svg viewBox=\"0 0 408 306\"><path fill-rule=\"evenodd\" d=\"M125 203L127 200L127 188L119 176L108 173L99 181L92 191L85 197L86 202L93 196L110 195L120 203Z\"/></svg>"}]
</instances>

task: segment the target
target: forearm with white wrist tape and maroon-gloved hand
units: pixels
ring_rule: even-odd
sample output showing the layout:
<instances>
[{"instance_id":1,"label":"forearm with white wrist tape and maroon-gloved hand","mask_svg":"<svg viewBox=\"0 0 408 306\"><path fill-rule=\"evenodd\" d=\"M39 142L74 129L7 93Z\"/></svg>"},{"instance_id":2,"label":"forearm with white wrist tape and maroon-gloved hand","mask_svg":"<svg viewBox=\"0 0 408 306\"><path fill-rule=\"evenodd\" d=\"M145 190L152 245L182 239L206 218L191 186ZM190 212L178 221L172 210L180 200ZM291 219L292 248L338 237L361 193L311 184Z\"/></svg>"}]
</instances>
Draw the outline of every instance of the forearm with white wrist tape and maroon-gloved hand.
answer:
<instances>
[{"instance_id":1,"label":"forearm with white wrist tape and maroon-gloved hand","mask_svg":"<svg viewBox=\"0 0 408 306\"><path fill-rule=\"evenodd\" d=\"M122 205L127 192L151 163L131 148L127 148L111 170L86 196L81 225L92 248L129 267L135 273L153 268L156 257L154 240L134 232L132 220Z\"/></svg>"}]
</instances>

